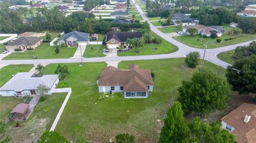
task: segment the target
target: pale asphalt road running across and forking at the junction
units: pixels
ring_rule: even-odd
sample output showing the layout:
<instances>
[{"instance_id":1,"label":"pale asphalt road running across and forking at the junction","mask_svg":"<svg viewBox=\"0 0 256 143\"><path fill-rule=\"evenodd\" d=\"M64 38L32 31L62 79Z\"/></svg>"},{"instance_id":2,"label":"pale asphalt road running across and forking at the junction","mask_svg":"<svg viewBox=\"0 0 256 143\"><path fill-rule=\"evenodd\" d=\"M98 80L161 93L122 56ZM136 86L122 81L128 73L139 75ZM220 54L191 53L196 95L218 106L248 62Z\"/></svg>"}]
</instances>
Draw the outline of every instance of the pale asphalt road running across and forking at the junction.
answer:
<instances>
[{"instance_id":1,"label":"pale asphalt road running across and forking at the junction","mask_svg":"<svg viewBox=\"0 0 256 143\"><path fill-rule=\"evenodd\" d=\"M133 3L134 0L132 0ZM165 33L159 31L150 21L147 19L146 14L140 9L138 5L135 5L141 14L143 20L147 20L150 24L150 28L153 32L155 32L158 36L162 37L163 39L169 41L173 45L179 47L179 50L174 53L170 54L161 54L161 55L143 55L143 56L115 56L115 57L89 57L83 58L83 62L113 62L113 61L133 61L133 60L150 60L150 59L161 59L161 58L177 58L177 57L185 57L190 52L197 51L200 53L201 58L203 58L204 49L199 48L192 48L185 44L180 43L173 38L170 38ZM256 39L255 39L256 40ZM252 40L251 40L252 41ZM235 49L237 46L249 45L251 41L246 41L244 43L239 43L235 45L219 47L214 49L206 49L205 52L205 60L222 66L223 68L227 68L228 63L223 62L217 58L217 55L221 52L230 51ZM50 63L80 63L81 58L57 58L57 59L42 59L42 60L1 60L0 63L7 65L7 64L50 64Z\"/></svg>"}]
</instances>

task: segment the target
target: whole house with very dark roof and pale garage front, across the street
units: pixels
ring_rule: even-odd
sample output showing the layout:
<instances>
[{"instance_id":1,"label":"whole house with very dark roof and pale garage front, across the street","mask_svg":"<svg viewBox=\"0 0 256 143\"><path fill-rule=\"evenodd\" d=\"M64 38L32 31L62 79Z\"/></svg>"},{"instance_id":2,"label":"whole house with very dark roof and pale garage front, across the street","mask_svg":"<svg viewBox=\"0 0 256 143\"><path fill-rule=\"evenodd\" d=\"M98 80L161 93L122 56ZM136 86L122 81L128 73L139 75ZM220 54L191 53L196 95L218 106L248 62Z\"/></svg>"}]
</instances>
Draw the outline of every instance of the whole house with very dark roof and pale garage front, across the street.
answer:
<instances>
[{"instance_id":1,"label":"whole house with very dark roof and pale garage front, across the street","mask_svg":"<svg viewBox=\"0 0 256 143\"><path fill-rule=\"evenodd\" d=\"M126 39L141 38L141 32L107 32L107 48L117 48L125 45Z\"/></svg>"}]
</instances>

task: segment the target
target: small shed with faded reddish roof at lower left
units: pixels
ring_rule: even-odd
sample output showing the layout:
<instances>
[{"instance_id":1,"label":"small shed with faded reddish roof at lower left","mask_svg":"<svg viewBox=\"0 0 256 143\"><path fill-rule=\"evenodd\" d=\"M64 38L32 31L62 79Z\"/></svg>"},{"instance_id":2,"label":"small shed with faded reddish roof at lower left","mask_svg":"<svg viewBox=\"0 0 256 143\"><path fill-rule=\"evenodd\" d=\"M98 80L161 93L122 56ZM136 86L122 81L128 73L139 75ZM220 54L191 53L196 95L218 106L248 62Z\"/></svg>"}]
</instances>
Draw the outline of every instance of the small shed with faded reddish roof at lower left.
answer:
<instances>
[{"instance_id":1,"label":"small shed with faded reddish roof at lower left","mask_svg":"<svg viewBox=\"0 0 256 143\"><path fill-rule=\"evenodd\" d=\"M12 120L27 120L30 113L31 113L30 105L25 103L20 103L11 112Z\"/></svg>"}]
</instances>

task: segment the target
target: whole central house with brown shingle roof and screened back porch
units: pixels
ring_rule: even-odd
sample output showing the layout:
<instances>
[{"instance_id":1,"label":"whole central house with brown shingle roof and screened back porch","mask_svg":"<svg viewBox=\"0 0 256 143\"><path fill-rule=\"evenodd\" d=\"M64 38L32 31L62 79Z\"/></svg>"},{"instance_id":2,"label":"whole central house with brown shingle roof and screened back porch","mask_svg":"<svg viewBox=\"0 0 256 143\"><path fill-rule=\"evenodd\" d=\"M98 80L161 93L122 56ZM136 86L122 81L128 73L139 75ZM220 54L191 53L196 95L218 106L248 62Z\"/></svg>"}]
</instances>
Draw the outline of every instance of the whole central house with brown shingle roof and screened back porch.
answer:
<instances>
[{"instance_id":1,"label":"whole central house with brown shingle roof and screened back porch","mask_svg":"<svg viewBox=\"0 0 256 143\"><path fill-rule=\"evenodd\" d=\"M99 92L123 92L124 98L147 98L154 86L150 70L139 69L136 64L129 65L128 70L108 66L97 82Z\"/></svg>"}]
</instances>

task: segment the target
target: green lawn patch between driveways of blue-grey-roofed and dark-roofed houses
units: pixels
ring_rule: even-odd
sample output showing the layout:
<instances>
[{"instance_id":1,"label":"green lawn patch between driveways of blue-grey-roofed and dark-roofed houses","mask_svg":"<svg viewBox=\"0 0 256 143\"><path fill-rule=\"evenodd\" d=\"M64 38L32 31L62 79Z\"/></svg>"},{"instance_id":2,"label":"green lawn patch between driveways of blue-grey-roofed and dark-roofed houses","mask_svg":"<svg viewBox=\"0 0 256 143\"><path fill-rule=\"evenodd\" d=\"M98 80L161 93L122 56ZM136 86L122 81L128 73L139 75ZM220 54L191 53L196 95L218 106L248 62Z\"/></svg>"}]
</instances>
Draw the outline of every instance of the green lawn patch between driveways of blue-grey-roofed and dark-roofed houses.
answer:
<instances>
[{"instance_id":1,"label":"green lawn patch between driveways of blue-grey-roofed and dark-roofed houses","mask_svg":"<svg viewBox=\"0 0 256 143\"><path fill-rule=\"evenodd\" d=\"M102 45L89 45L86 46L83 57L104 57L104 47Z\"/></svg>"}]
</instances>

